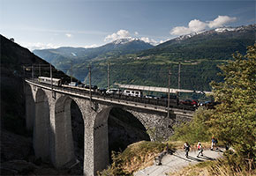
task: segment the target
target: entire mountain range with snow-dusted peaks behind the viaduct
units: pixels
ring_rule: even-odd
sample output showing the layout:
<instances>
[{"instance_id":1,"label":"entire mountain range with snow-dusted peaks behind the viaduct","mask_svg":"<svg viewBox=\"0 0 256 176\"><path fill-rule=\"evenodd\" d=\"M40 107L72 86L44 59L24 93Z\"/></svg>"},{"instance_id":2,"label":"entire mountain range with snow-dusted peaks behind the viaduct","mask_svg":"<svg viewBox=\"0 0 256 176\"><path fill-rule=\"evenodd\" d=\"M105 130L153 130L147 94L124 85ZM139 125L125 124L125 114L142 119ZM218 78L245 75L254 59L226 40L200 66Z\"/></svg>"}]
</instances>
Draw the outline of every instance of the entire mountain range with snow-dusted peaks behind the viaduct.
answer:
<instances>
[{"instance_id":1,"label":"entire mountain range with snow-dusted peaks behind the viaduct","mask_svg":"<svg viewBox=\"0 0 256 176\"><path fill-rule=\"evenodd\" d=\"M88 65L92 65L92 82L107 84L107 63L111 63L111 84L143 84L167 86L168 69L171 70L171 87L177 87L178 63L181 64L181 86L184 89L210 91L217 76L217 65L232 59L239 52L245 55L246 47L255 42L256 25L222 27L190 33L151 46L138 39L116 40L99 48L57 48L34 50L56 68L70 73L79 80L88 81Z\"/></svg>"}]
</instances>

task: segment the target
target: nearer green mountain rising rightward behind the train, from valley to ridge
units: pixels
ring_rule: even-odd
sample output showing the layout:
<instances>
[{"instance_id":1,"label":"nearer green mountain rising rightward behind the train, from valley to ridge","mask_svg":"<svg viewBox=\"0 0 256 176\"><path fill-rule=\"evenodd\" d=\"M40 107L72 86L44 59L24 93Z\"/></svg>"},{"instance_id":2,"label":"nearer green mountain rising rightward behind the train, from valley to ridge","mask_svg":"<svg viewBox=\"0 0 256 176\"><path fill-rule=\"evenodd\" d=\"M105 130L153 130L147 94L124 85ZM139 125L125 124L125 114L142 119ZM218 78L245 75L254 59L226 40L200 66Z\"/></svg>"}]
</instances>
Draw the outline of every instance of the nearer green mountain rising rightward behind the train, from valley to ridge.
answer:
<instances>
[{"instance_id":1,"label":"nearer green mountain rising rightward behind the train, from valley to ridge","mask_svg":"<svg viewBox=\"0 0 256 176\"><path fill-rule=\"evenodd\" d=\"M107 62L111 62L112 84L167 86L170 68L171 87L177 88L180 62L181 88L211 91L209 83L222 80L222 77L217 76L220 72L217 65L232 59L232 54L237 51L245 54L246 47L255 42L255 31L255 25L215 29L181 36L136 55L94 61L92 81L99 86L106 86ZM87 76L85 65L78 65L76 69L77 77Z\"/></svg>"}]
</instances>

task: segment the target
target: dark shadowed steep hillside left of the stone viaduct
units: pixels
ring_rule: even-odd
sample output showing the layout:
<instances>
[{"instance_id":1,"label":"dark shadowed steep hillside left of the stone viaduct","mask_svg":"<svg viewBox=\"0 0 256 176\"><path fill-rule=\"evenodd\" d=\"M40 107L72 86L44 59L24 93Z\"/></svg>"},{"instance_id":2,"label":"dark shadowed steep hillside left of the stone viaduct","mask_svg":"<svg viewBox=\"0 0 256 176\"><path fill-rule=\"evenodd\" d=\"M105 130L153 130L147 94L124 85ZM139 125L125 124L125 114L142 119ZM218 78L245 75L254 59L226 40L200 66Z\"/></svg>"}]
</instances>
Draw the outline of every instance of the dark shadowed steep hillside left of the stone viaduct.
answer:
<instances>
[{"instance_id":1,"label":"dark shadowed steep hillside left of the stone viaduct","mask_svg":"<svg viewBox=\"0 0 256 176\"><path fill-rule=\"evenodd\" d=\"M41 64L41 74L49 75L49 63L20 47L17 43L1 39L1 174L26 174L36 169L32 134L26 131L24 77L31 76L31 65ZM38 72L35 72L35 75ZM54 77L69 77L53 68ZM39 162L40 163L40 162Z\"/></svg>"}]
</instances>

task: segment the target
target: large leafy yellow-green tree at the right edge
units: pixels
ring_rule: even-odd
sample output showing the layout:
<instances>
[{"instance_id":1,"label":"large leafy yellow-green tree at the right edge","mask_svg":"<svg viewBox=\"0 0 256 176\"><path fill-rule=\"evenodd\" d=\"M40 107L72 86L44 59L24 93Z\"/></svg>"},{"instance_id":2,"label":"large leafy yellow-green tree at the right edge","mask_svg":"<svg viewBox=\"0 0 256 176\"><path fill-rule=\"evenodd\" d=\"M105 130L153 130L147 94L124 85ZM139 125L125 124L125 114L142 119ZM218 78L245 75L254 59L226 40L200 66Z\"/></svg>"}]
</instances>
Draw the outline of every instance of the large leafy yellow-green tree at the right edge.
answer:
<instances>
[{"instance_id":1,"label":"large leafy yellow-green tree at the right edge","mask_svg":"<svg viewBox=\"0 0 256 176\"><path fill-rule=\"evenodd\" d=\"M246 55L220 66L224 81L212 82L216 106L210 123L213 134L230 143L242 158L256 161L256 44Z\"/></svg>"}]
</instances>

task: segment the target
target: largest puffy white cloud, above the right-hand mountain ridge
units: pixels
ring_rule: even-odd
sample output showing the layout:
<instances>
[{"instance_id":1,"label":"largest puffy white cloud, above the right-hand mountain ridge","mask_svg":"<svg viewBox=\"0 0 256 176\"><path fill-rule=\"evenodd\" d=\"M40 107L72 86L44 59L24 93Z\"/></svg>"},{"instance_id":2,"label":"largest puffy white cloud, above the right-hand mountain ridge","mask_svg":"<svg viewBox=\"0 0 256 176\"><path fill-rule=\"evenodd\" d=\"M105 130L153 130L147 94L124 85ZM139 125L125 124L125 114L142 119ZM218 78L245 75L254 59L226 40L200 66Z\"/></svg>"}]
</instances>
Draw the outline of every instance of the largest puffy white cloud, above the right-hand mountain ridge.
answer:
<instances>
[{"instance_id":1,"label":"largest puffy white cloud, above the right-hand mountain ridge","mask_svg":"<svg viewBox=\"0 0 256 176\"><path fill-rule=\"evenodd\" d=\"M193 19L189 22L188 26L176 26L169 32L171 35L184 35L187 33L199 33L207 28L215 28L224 26L230 22L235 21L237 18L229 16L218 16L213 21L202 22L199 19Z\"/></svg>"}]
</instances>

